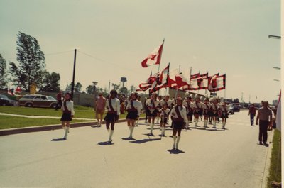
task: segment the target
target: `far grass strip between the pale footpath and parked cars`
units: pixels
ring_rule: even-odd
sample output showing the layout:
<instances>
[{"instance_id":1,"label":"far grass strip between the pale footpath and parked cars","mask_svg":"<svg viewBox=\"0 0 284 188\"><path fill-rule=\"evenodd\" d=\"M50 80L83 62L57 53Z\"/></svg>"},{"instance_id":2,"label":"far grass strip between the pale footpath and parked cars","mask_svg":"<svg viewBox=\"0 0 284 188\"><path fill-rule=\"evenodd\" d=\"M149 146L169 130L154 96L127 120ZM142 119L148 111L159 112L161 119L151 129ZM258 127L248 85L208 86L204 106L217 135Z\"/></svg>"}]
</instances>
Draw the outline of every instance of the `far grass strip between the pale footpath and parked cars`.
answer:
<instances>
[{"instance_id":1,"label":"far grass strip between the pale footpath and parked cars","mask_svg":"<svg viewBox=\"0 0 284 188\"><path fill-rule=\"evenodd\" d=\"M28 108L24 106L0 106L0 112L8 114L21 114L27 116L55 116L60 117L62 111L55 111L54 109L44 108ZM93 108L84 106L75 106L75 118L95 118L96 114ZM125 118L126 114L121 114L119 118ZM145 117L142 114L141 117Z\"/></svg>"}]
</instances>

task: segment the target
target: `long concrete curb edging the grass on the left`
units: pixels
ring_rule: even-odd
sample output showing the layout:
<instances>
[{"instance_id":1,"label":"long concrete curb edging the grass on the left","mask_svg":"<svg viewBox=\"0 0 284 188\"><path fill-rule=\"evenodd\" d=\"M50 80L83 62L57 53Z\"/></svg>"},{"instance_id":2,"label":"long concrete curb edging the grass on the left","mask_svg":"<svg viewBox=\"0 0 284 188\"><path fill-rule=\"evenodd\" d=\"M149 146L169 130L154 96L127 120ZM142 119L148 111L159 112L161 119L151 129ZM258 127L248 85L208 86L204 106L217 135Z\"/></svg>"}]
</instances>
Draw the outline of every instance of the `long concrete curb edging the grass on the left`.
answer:
<instances>
[{"instance_id":1,"label":"long concrete curb edging the grass on the left","mask_svg":"<svg viewBox=\"0 0 284 188\"><path fill-rule=\"evenodd\" d=\"M140 118L143 120L145 118ZM116 123L126 122L126 119L119 119ZM103 121L102 124L106 122ZM83 127L83 126L93 126L96 125L97 121L88 121L88 122L79 122L79 123L70 123L71 128L75 127ZM0 136L8 136L13 134L21 134L21 133L32 133L32 132L39 132L39 131L53 131L55 129L62 128L61 124L57 125L48 125L48 126L33 126L33 127L24 127L24 128L9 128L9 129L2 129L0 130Z\"/></svg>"}]
</instances>

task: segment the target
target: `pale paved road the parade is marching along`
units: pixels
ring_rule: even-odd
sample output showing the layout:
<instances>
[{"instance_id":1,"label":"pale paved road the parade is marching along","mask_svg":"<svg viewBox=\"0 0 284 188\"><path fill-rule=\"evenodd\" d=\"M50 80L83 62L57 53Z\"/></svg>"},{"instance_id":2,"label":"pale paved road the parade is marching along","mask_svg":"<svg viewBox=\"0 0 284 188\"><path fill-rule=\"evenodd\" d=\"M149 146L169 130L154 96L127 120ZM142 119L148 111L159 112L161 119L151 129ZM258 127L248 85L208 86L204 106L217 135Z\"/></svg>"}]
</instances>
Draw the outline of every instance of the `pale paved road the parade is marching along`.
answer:
<instances>
[{"instance_id":1,"label":"pale paved road the parade is marching along","mask_svg":"<svg viewBox=\"0 0 284 188\"><path fill-rule=\"evenodd\" d=\"M149 138L139 125L136 140L122 139L126 123L116 124L113 145L104 127L71 128L67 141L51 141L62 130L1 136L0 187L259 188L272 145L258 145L247 111L228 121L226 131L182 131L180 153L170 152L170 130Z\"/></svg>"}]
</instances>

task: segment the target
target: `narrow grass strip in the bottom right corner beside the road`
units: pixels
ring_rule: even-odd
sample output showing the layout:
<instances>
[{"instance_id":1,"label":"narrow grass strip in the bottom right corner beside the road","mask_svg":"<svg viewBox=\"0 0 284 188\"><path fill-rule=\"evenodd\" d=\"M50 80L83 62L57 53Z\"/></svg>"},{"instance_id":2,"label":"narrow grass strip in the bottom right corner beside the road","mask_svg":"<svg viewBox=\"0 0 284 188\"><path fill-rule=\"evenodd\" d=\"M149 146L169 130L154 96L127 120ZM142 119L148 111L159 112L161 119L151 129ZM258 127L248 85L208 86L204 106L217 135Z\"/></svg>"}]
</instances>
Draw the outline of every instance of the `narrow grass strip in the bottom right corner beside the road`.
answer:
<instances>
[{"instance_id":1,"label":"narrow grass strip in the bottom right corner beside the road","mask_svg":"<svg viewBox=\"0 0 284 188\"><path fill-rule=\"evenodd\" d=\"M281 132L274 131L273 136L273 148L271 153L271 167L269 170L269 177L267 181L267 187L273 188L270 184L271 181L281 182Z\"/></svg>"}]
</instances>

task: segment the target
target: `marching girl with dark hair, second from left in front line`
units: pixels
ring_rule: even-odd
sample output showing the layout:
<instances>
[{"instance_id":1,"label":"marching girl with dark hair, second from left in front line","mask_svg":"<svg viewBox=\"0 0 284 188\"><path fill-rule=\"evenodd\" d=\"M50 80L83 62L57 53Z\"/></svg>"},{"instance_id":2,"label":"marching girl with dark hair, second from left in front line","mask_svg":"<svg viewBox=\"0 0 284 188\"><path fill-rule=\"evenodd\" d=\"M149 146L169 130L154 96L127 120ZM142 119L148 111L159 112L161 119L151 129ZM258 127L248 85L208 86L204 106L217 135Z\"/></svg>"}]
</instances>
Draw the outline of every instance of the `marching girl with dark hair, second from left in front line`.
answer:
<instances>
[{"instance_id":1,"label":"marching girl with dark hair, second from left in front line","mask_svg":"<svg viewBox=\"0 0 284 188\"><path fill-rule=\"evenodd\" d=\"M120 115L120 101L116 98L116 90L111 90L109 99L107 99L107 115L104 117L106 121L107 131L109 132L109 143L112 142L112 135L114 134L114 123L119 120ZM111 130L109 130L111 126Z\"/></svg>"}]
</instances>

